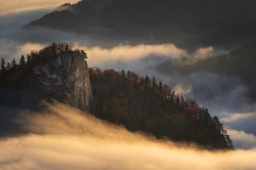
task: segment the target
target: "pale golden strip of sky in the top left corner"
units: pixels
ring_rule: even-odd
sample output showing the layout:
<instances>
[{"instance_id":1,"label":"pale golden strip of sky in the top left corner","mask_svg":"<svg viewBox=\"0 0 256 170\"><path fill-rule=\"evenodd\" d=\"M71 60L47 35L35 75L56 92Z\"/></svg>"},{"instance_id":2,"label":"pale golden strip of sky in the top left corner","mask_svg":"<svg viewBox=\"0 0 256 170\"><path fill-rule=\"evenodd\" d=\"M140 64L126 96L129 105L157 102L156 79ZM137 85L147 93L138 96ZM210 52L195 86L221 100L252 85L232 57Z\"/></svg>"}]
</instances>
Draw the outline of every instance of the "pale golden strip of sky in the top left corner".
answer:
<instances>
[{"instance_id":1,"label":"pale golden strip of sky in the top left corner","mask_svg":"<svg viewBox=\"0 0 256 170\"><path fill-rule=\"evenodd\" d=\"M21 12L27 10L34 10L34 9L47 9L47 8L56 8L59 7L61 4L64 3L75 3L78 0L0 0L0 15L10 14L13 12Z\"/></svg>"}]
</instances>

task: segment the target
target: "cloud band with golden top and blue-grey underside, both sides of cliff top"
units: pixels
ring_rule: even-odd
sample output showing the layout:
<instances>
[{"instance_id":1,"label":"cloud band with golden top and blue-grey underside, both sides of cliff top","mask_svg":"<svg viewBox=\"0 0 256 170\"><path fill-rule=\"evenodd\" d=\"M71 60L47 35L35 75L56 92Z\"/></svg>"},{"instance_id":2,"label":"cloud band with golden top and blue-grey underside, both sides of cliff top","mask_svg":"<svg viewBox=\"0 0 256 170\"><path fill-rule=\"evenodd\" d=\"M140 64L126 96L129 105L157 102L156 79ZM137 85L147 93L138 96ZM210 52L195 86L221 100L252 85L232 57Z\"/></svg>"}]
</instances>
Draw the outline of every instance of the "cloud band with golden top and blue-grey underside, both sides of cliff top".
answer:
<instances>
[{"instance_id":1,"label":"cloud band with golden top and blue-grey underside, both sides of cliff top","mask_svg":"<svg viewBox=\"0 0 256 170\"><path fill-rule=\"evenodd\" d=\"M22 54L26 55L30 53L31 50L39 50L45 47L45 44L31 42L18 45L12 42L12 40L7 41L6 39L0 39L0 43L7 46L1 47L0 53L3 53L5 56L10 53L8 57L10 59L18 58ZM75 48L86 51L89 57L87 60L89 66L97 66L103 69L131 69L138 71L167 60L186 64L201 60L203 59L203 55L208 55L208 53L201 54L202 56L200 58L198 55L189 55L187 50L178 48L173 44L118 45L112 48L86 47L86 45L81 45L81 42L74 42L72 44ZM13 50L14 46L16 50ZM184 61L184 58L187 59Z\"/></svg>"}]
</instances>

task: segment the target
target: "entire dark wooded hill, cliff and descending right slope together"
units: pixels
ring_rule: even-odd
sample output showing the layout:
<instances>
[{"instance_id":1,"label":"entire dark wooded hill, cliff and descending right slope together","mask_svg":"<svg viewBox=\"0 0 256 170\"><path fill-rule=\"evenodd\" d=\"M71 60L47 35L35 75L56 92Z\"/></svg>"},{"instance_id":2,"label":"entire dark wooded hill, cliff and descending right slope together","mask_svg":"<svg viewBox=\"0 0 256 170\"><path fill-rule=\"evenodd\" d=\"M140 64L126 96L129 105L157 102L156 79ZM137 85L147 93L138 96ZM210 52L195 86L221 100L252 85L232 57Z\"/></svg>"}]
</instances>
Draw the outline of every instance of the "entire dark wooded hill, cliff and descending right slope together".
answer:
<instances>
[{"instance_id":1,"label":"entire dark wooded hill, cliff and descending right slope together","mask_svg":"<svg viewBox=\"0 0 256 170\"><path fill-rule=\"evenodd\" d=\"M27 59L22 55L19 63L15 60L6 63L2 59L0 107L38 109L40 101L53 98L81 109L83 103L74 104L74 98L82 92L89 93L90 89L80 86L85 83L81 80L86 76L81 80L75 77L88 72L87 65L80 66L80 63L86 63L86 58L83 50L53 43L39 52L31 52ZM233 147L218 117L211 117L206 108L198 107L192 99L177 96L174 90L154 77L140 77L134 72L113 69L89 69L89 77L93 93L91 113L102 120L124 125L129 131L152 134L158 139L166 137L218 149ZM76 92L79 92L78 96L74 94ZM81 102L81 98L76 102ZM15 115L4 112L0 116L0 134L7 128L15 128L9 121Z\"/></svg>"}]
</instances>

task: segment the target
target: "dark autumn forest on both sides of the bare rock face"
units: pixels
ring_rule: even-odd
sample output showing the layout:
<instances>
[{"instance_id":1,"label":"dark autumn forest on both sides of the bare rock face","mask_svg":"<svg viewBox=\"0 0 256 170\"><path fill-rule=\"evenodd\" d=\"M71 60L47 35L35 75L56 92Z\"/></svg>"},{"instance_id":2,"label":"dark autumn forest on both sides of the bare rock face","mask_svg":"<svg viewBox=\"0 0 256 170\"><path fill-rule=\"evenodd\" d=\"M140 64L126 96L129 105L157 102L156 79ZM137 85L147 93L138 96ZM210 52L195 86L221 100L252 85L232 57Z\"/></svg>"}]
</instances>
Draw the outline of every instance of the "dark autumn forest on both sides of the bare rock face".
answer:
<instances>
[{"instance_id":1,"label":"dark autumn forest on both sides of the bare rock face","mask_svg":"<svg viewBox=\"0 0 256 170\"><path fill-rule=\"evenodd\" d=\"M39 52L32 51L26 58L22 55L19 63L15 59L11 63L1 59L0 106L15 104L13 90L23 96L28 91L42 93L34 84L32 68L50 62L48 59L59 53L86 56L83 50L72 50L68 44L53 43ZM97 68L89 69L89 76L94 98L91 113L102 120L124 125L129 131L144 131L158 139L167 137L219 149L233 147L218 117L211 117L206 108L198 107L192 99L177 96L174 90L154 77Z\"/></svg>"}]
</instances>

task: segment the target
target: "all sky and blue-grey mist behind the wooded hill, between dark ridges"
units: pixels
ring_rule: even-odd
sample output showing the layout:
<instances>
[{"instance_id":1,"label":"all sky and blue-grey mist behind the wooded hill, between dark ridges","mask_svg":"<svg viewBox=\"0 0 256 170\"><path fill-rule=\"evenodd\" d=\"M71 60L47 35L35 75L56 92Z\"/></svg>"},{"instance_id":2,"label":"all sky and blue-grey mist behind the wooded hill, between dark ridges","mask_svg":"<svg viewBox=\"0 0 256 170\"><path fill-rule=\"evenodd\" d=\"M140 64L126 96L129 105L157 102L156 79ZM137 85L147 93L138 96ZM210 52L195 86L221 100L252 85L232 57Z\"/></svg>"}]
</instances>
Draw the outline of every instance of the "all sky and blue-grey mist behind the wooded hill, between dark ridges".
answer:
<instances>
[{"instance_id":1,"label":"all sky and blue-grey mist behind the wooded hill, between dark ridges","mask_svg":"<svg viewBox=\"0 0 256 170\"><path fill-rule=\"evenodd\" d=\"M182 96L195 98L201 107L208 107L211 115L220 117L229 129L235 147L256 147L255 104L246 98L246 86L237 77L225 77L209 73L193 73L187 76L174 74L167 76L154 72L148 67L172 60L179 64L196 62L218 53L227 53L216 47L199 47L187 50L176 47L172 42L156 45L113 45L108 39L91 39L89 35L56 31L49 28L27 30L22 28L31 20L50 12L50 9L75 1L2 1L0 0L0 58L11 61L31 50L40 50L51 42L72 42L74 47L82 48L89 56L89 66L101 69L130 69L138 74L148 74L167 83ZM50 9L48 9L50 8ZM229 85L223 92L221 88ZM206 100L211 96L211 100ZM242 98L242 100L241 100ZM243 101L243 102L241 102ZM240 102L241 105L238 105Z\"/></svg>"}]
</instances>

